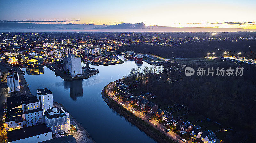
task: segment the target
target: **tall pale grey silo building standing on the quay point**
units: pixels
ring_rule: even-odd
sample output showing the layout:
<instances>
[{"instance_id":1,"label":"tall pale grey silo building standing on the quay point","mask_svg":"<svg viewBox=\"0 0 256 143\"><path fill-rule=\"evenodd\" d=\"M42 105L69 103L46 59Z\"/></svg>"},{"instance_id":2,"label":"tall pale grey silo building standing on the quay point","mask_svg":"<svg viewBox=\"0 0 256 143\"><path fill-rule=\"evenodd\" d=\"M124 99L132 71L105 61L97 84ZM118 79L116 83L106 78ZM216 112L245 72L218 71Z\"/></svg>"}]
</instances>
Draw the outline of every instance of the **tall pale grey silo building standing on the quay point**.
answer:
<instances>
[{"instance_id":1,"label":"tall pale grey silo building standing on the quay point","mask_svg":"<svg viewBox=\"0 0 256 143\"><path fill-rule=\"evenodd\" d=\"M81 57L75 57L74 54L68 55L68 73L72 76L82 74Z\"/></svg>"}]
</instances>

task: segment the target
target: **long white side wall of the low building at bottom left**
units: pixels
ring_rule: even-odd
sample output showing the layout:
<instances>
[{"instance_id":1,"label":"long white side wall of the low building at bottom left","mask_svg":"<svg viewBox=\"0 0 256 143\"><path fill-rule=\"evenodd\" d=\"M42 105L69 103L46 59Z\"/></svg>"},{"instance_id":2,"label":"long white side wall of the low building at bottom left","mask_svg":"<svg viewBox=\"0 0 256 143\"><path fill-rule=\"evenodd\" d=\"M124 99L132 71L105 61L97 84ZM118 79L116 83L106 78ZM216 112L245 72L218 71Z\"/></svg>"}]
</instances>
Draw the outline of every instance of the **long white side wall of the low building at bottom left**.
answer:
<instances>
[{"instance_id":1,"label":"long white side wall of the low building at bottom left","mask_svg":"<svg viewBox=\"0 0 256 143\"><path fill-rule=\"evenodd\" d=\"M48 132L48 133L36 135L36 136L25 138L25 139L16 140L8 143L32 143L32 142L38 143L38 142L42 142L50 139L52 139L52 132Z\"/></svg>"}]
</instances>

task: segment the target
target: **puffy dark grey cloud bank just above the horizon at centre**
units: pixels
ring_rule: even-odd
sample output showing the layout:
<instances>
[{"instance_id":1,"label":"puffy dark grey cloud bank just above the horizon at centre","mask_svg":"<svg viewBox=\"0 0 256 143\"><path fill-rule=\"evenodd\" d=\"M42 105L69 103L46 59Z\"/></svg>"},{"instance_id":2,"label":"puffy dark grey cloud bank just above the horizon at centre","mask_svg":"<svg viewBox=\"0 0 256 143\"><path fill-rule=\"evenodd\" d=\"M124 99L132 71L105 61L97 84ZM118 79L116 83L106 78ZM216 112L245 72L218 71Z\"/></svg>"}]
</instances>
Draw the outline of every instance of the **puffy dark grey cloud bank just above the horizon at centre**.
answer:
<instances>
[{"instance_id":1,"label":"puffy dark grey cloud bank just above the horizon at centre","mask_svg":"<svg viewBox=\"0 0 256 143\"><path fill-rule=\"evenodd\" d=\"M106 27L95 27L93 29L145 29L147 28L143 22L141 23L121 23L115 25L109 25Z\"/></svg>"}]
</instances>

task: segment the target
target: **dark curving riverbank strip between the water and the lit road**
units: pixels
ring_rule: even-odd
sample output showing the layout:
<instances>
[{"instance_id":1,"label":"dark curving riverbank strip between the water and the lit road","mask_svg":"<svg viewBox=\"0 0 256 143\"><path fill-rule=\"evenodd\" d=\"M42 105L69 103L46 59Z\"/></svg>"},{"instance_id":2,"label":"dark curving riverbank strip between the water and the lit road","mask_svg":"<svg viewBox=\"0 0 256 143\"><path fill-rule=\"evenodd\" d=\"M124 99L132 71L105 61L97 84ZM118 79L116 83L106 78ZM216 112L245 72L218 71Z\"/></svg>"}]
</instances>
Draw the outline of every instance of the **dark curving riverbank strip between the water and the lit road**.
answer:
<instances>
[{"instance_id":1,"label":"dark curving riverbank strip between the water and the lit road","mask_svg":"<svg viewBox=\"0 0 256 143\"><path fill-rule=\"evenodd\" d=\"M158 142L174 143L172 139L165 136L162 132L156 130L154 127L150 126L147 122L133 115L131 112L127 111L123 106L121 106L120 104L116 103L113 99L108 97L106 93L107 86L104 87L104 89L101 92L101 95L109 107L115 110L118 114L124 116L129 122L136 125L138 128L140 128L142 131L144 131L146 134L148 134L150 137L154 138Z\"/></svg>"}]
</instances>

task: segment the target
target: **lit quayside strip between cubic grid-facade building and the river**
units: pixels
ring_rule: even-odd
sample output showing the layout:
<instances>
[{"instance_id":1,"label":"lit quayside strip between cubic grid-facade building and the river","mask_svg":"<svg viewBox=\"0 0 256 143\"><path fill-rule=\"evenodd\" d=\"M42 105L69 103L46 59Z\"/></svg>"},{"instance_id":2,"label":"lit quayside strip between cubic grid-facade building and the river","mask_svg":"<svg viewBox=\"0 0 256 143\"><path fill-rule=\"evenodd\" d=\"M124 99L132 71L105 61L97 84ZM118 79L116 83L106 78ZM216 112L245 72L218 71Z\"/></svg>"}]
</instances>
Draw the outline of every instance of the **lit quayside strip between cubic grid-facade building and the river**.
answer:
<instances>
[{"instance_id":1,"label":"lit quayside strip between cubic grid-facade building and the river","mask_svg":"<svg viewBox=\"0 0 256 143\"><path fill-rule=\"evenodd\" d=\"M54 102L54 107L63 108L65 111L67 111L65 107L58 102ZM76 126L76 128L78 129L77 132L70 131L70 134L73 135L77 143L95 143L90 134L84 129L84 127L78 121L76 121L76 119L70 113L69 118L70 125L72 124Z\"/></svg>"}]
</instances>

